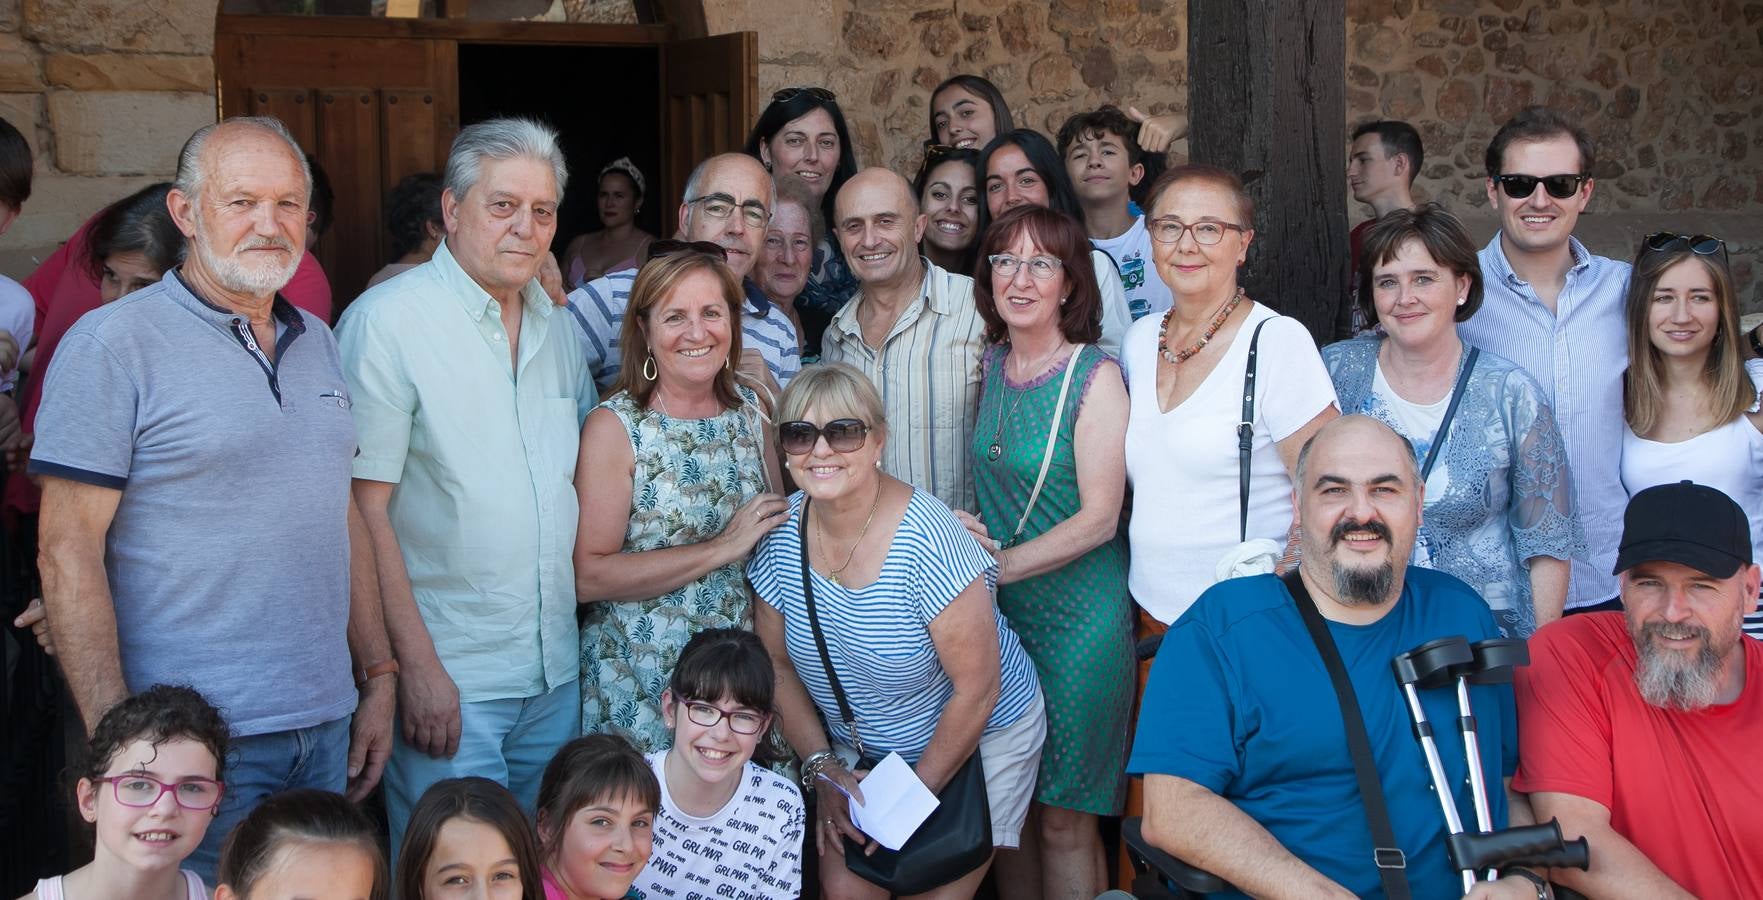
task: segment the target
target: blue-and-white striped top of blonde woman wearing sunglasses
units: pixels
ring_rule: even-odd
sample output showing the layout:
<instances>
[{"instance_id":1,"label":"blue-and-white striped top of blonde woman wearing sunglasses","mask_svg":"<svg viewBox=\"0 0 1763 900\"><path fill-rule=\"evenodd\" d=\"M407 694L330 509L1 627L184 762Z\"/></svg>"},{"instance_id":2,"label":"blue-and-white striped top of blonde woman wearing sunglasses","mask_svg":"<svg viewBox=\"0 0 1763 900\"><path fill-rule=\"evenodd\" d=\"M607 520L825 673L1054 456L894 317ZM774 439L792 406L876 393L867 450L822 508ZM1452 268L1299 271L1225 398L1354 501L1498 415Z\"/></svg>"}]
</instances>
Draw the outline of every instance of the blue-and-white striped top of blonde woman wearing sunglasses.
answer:
<instances>
[{"instance_id":1,"label":"blue-and-white striped top of blonde woman wearing sunglasses","mask_svg":"<svg viewBox=\"0 0 1763 900\"><path fill-rule=\"evenodd\" d=\"M829 736L853 746L807 626L799 536L802 496L797 491L790 498L790 521L760 540L748 563L748 579L758 598L783 614L790 664L825 716ZM911 492L874 584L843 588L811 570L827 655L869 755L894 750L917 762L929 746L943 704L956 690L931 644L931 619L975 577L986 575L986 586L994 588L996 574L991 554L926 491ZM998 706L986 720L987 734L1014 725L1040 694L1035 665L1015 632L996 605L993 616L1001 678Z\"/></svg>"}]
</instances>

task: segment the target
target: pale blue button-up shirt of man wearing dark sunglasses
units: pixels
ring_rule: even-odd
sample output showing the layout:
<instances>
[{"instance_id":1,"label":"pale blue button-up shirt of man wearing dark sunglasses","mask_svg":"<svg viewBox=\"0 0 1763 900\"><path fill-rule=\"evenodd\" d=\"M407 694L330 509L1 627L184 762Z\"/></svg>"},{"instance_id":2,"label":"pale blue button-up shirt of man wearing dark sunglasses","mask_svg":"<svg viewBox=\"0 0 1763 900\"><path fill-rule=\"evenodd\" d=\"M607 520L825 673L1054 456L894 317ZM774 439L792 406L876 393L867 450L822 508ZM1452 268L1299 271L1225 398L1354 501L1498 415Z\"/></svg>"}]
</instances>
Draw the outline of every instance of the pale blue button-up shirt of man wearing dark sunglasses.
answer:
<instances>
[{"instance_id":1,"label":"pale blue button-up shirt of man wearing dark sunglasses","mask_svg":"<svg viewBox=\"0 0 1763 900\"><path fill-rule=\"evenodd\" d=\"M1458 325L1463 341L1516 362L1537 379L1555 408L1573 478L1585 556L1573 559L1567 609L1617 596L1617 544L1622 540L1622 372L1629 332L1622 304L1629 265L1592 256L1567 238L1573 268L1555 312L1516 274L1500 236L1481 251L1483 302Z\"/></svg>"}]
</instances>

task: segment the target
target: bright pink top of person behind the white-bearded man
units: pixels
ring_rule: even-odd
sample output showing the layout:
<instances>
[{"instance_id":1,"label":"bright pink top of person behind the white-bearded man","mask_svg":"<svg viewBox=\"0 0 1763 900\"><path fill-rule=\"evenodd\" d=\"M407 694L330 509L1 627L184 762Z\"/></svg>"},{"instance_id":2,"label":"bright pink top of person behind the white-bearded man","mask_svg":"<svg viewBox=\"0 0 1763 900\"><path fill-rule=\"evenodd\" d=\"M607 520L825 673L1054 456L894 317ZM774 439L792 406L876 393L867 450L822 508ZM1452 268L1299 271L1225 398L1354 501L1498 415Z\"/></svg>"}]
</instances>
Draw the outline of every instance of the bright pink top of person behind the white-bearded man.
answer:
<instances>
[{"instance_id":1,"label":"bright pink top of person behind the white-bearded man","mask_svg":"<svg viewBox=\"0 0 1763 900\"><path fill-rule=\"evenodd\" d=\"M88 272L86 263L86 233L92 231L93 222L97 222L97 215L86 219L86 224L67 238L67 244L62 244L19 282L37 302L37 356L25 386L25 401L19 404L19 425L26 434L33 432L37 425L42 381L49 372L49 360L55 358L55 348L62 342L62 335L79 321L79 316L99 307L99 282ZM326 323L331 321L330 281L310 252L300 258L300 268L294 270L294 277L280 293L289 304ZM37 512L37 489L23 473L7 478L5 505L23 512Z\"/></svg>"}]
</instances>

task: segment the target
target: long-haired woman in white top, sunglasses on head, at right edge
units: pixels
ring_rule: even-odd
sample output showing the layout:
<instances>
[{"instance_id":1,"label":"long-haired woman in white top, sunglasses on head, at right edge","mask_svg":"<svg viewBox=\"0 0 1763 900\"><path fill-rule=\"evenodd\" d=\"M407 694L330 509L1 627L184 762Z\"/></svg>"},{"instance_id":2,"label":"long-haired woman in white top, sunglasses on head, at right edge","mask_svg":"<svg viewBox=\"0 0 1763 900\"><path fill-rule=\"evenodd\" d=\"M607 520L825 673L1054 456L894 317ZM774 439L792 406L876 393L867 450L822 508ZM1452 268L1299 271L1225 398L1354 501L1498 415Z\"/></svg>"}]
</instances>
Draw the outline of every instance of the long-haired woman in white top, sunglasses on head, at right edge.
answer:
<instances>
[{"instance_id":1,"label":"long-haired woman in white top, sunglasses on head, at right edge","mask_svg":"<svg viewBox=\"0 0 1763 900\"><path fill-rule=\"evenodd\" d=\"M1622 487L1629 496L1691 480L1751 515L1763 559L1763 362L1747 371L1726 244L1708 235L1648 235L1629 277ZM1745 632L1763 637L1751 611Z\"/></svg>"}]
</instances>

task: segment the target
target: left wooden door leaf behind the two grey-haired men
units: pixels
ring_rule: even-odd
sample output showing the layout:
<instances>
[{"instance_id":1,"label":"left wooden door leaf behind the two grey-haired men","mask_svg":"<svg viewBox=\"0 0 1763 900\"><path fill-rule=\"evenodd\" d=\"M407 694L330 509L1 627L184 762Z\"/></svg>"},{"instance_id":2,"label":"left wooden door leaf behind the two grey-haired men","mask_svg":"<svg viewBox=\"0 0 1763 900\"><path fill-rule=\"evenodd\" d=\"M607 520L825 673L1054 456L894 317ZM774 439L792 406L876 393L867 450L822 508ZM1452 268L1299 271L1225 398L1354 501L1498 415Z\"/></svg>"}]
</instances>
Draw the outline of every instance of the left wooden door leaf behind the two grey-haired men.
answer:
<instances>
[{"instance_id":1,"label":"left wooden door leaf behind the two grey-haired men","mask_svg":"<svg viewBox=\"0 0 1763 900\"><path fill-rule=\"evenodd\" d=\"M458 129L457 42L310 34L323 23L264 34L257 16L238 23L254 34L238 34L227 19L215 35L222 113L280 118L330 176L333 222L312 251L340 312L390 261L386 191L446 162Z\"/></svg>"}]
</instances>

